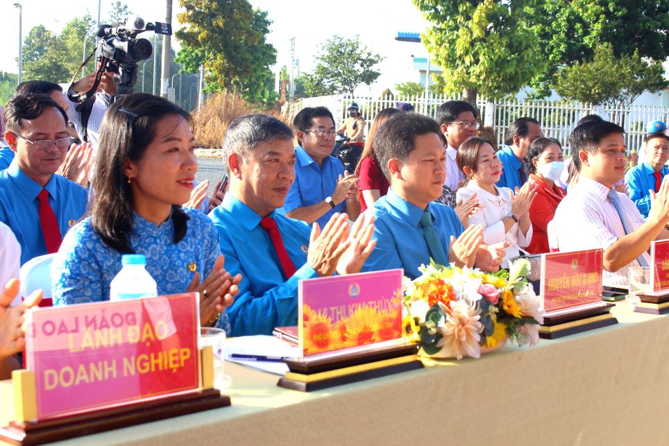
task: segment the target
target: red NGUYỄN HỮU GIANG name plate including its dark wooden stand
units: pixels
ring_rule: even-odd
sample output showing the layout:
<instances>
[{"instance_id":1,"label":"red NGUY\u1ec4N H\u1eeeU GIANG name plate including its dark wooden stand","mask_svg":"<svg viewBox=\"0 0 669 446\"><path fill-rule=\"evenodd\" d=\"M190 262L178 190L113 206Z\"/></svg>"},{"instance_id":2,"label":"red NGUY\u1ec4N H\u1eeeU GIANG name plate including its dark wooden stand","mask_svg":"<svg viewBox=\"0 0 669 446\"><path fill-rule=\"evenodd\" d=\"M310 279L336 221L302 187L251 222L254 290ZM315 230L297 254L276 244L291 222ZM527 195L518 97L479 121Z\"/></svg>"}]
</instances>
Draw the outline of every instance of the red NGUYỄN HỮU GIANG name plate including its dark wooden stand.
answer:
<instances>
[{"instance_id":1,"label":"red NGUY\u1ec4N H\u1eeeU GIANG name plate including its dark wooden stand","mask_svg":"<svg viewBox=\"0 0 669 446\"><path fill-rule=\"evenodd\" d=\"M542 255L543 325L539 336L556 339L617 324L613 304L602 302L603 250Z\"/></svg>"}]
</instances>

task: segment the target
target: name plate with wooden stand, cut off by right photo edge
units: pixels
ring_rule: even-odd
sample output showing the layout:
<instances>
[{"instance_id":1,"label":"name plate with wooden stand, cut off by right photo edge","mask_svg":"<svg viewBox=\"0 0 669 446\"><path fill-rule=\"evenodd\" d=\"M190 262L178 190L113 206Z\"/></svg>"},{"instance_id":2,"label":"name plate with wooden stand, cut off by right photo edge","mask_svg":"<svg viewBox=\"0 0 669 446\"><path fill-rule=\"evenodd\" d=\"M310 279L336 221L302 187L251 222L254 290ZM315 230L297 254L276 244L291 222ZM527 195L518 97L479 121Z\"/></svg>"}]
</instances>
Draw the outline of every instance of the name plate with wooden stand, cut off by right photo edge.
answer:
<instances>
[{"instance_id":1,"label":"name plate with wooden stand, cut off by right photo edge","mask_svg":"<svg viewBox=\"0 0 669 446\"><path fill-rule=\"evenodd\" d=\"M650 292L639 293L637 313L669 313L669 240L650 243Z\"/></svg>"}]
</instances>

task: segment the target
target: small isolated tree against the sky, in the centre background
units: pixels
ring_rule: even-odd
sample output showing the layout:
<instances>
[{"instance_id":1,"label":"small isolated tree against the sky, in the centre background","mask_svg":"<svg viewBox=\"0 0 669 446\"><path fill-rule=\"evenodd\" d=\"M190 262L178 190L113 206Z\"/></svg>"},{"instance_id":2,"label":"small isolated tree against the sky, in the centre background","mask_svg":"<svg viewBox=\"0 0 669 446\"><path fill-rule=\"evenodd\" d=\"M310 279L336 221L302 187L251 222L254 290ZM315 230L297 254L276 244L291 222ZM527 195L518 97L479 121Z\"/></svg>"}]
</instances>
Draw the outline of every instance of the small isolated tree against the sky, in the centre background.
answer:
<instances>
[{"instance_id":1,"label":"small isolated tree against the sky, in the centre background","mask_svg":"<svg viewBox=\"0 0 669 446\"><path fill-rule=\"evenodd\" d=\"M383 60L362 46L360 38L345 39L335 35L321 45L312 74L304 74L305 90L310 96L353 92L360 84L371 85L380 75L374 65Z\"/></svg>"}]
</instances>

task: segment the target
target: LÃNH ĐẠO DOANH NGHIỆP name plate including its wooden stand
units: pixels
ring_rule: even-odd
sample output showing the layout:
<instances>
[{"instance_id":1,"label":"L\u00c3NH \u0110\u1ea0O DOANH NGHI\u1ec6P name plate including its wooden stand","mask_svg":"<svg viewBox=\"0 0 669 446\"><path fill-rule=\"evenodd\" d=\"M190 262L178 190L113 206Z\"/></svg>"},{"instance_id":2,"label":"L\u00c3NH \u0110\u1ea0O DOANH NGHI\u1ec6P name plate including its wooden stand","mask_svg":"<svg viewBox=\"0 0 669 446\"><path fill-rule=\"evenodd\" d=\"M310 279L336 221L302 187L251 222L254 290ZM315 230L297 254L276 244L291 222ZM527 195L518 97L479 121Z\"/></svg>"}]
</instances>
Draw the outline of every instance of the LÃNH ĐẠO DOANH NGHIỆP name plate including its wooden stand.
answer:
<instances>
[{"instance_id":1,"label":"L\u00c3NH \u0110\u1ea0O DOANH NGHI\u1ec6P name plate including its wooden stand","mask_svg":"<svg viewBox=\"0 0 669 446\"><path fill-rule=\"evenodd\" d=\"M33 310L0 439L41 444L229 406L198 336L197 293Z\"/></svg>"}]
</instances>

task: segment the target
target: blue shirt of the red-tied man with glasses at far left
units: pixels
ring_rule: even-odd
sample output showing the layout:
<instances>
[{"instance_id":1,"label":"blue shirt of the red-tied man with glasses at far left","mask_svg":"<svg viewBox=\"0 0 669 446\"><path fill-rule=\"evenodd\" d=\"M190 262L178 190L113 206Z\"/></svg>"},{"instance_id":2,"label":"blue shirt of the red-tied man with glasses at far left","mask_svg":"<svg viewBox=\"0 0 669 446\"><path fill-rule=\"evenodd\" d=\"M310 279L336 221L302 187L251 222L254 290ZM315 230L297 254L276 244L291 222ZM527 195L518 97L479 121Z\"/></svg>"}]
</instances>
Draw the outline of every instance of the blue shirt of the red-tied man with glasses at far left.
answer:
<instances>
[{"instance_id":1,"label":"blue shirt of the red-tied man with glasses at far left","mask_svg":"<svg viewBox=\"0 0 669 446\"><path fill-rule=\"evenodd\" d=\"M60 235L86 212L88 191L60 175L52 175L44 189L49 191L49 203L58 220ZM46 243L40 225L37 195L42 186L28 178L14 160L0 172L0 221L8 225L21 245L21 264L46 254Z\"/></svg>"}]
</instances>

